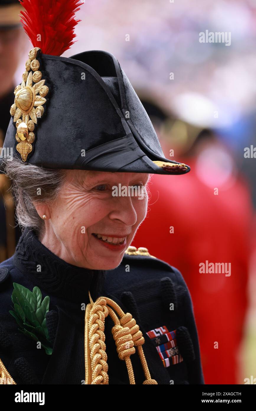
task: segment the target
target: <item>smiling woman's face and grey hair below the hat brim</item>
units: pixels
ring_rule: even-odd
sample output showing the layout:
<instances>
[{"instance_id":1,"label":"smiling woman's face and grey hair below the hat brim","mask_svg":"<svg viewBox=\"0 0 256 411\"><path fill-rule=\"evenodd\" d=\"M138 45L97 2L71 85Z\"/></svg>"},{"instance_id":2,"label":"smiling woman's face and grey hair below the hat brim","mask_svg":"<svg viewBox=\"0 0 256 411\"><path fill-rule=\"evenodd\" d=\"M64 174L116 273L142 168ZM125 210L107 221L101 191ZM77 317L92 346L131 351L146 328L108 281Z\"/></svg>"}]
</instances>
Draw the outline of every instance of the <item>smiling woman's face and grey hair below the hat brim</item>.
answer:
<instances>
[{"instance_id":1,"label":"smiling woman's face and grey hair below the hat brim","mask_svg":"<svg viewBox=\"0 0 256 411\"><path fill-rule=\"evenodd\" d=\"M78 267L116 268L146 216L146 195L143 201L113 196L112 187L139 184L146 194L149 174L51 170L20 159L6 161L5 172L13 182L18 224Z\"/></svg>"}]
</instances>

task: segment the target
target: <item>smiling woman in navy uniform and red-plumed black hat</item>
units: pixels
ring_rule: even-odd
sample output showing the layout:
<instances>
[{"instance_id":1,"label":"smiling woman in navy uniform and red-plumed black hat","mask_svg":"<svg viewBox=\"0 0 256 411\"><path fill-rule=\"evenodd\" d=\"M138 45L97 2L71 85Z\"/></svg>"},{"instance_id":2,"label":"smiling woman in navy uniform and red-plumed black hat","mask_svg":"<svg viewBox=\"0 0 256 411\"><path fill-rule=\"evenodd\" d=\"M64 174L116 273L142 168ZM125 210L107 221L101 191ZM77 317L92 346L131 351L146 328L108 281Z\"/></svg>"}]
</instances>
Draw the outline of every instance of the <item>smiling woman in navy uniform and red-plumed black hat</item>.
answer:
<instances>
[{"instance_id":1,"label":"smiling woman in navy uniform and red-plumed black hat","mask_svg":"<svg viewBox=\"0 0 256 411\"><path fill-rule=\"evenodd\" d=\"M22 3L30 39L63 32L42 36L45 54L34 40L5 137L14 156L0 159L23 230L0 264L0 384L203 384L181 273L130 246L149 175L190 168L164 157L113 55L59 57L80 3L50 3L50 23L38 2Z\"/></svg>"}]
</instances>

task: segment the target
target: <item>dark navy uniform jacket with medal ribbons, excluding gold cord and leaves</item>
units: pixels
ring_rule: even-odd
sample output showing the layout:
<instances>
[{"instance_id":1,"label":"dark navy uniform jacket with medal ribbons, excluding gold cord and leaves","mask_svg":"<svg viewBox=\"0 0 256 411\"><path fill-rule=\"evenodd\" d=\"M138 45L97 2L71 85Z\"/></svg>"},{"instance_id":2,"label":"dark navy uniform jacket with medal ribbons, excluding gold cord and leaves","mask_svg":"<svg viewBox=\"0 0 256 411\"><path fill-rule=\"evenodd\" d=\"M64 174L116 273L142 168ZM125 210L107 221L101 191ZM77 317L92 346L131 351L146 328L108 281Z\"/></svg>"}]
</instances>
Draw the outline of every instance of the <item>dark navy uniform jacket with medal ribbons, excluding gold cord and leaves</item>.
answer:
<instances>
[{"instance_id":1,"label":"dark navy uniform jacket with medal ribbons, excluding gold cord and leaves","mask_svg":"<svg viewBox=\"0 0 256 411\"><path fill-rule=\"evenodd\" d=\"M59 259L25 230L16 252L0 264L0 359L17 384L82 384L85 381L85 311L88 291L95 301L107 296L130 312L143 333L143 350L158 384L203 384L192 301L181 273L129 247L119 267L100 271ZM9 313L13 283L50 296L46 322L53 353L18 330ZM105 319L109 384L129 384L126 364L118 358L110 316ZM145 380L137 352L131 357L136 384Z\"/></svg>"}]
</instances>

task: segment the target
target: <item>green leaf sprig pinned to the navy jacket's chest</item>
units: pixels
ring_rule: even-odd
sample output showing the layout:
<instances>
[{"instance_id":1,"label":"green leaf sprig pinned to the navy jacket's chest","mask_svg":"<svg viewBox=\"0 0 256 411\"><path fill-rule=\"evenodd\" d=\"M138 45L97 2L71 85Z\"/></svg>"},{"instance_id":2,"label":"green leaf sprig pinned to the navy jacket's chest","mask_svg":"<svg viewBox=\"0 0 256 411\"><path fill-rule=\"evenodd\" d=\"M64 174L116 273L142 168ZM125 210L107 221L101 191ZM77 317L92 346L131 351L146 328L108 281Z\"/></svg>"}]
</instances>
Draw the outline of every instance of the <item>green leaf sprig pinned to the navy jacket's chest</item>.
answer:
<instances>
[{"instance_id":1,"label":"green leaf sprig pinned to the navy jacket's chest","mask_svg":"<svg viewBox=\"0 0 256 411\"><path fill-rule=\"evenodd\" d=\"M13 283L14 291L11 300L14 303L14 311L9 313L16 319L19 331L41 342L46 354L53 352L48 328L46 325L46 314L49 311L50 297L46 296L42 301L42 293L38 287L33 292L21 284Z\"/></svg>"}]
</instances>

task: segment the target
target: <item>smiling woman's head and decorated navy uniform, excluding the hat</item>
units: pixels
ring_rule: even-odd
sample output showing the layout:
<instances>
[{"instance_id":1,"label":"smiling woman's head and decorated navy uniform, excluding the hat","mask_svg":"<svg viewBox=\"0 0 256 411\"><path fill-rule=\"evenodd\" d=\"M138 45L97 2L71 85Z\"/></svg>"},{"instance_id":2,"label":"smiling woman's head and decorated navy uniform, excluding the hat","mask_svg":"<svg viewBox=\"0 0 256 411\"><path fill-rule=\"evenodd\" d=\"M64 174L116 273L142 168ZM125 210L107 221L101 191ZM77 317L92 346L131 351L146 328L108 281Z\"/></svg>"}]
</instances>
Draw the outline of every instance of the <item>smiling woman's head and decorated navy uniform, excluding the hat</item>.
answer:
<instances>
[{"instance_id":1,"label":"smiling woman's head and decorated navy uniform, excluding the hat","mask_svg":"<svg viewBox=\"0 0 256 411\"><path fill-rule=\"evenodd\" d=\"M192 303L181 274L167 264L163 267L147 249L129 247L146 217L149 174L46 169L24 164L18 158L5 159L2 169L12 180L16 215L23 235L14 256L0 266L1 281L9 281L10 285L2 293L0 321L1 318L6 321L6 309L13 302L14 311L9 311L11 315L7 319L8 337L13 337L17 325L23 336L18 341L18 358L9 348L1 352L0 383L134 384L135 377L137 383L143 384L203 383ZM138 196L113 195L113 187L118 185L141 187L142 201ZM133 260L129 260L130 257ZM145 266L134 257L141 262L146 259ZM176 295L179 288L183 290L182 300ZM101 297L102 293L105 297ZM169 298L164 298L163 293ZM159 297L168 311L174 304L175 316L159 314ZM120 302L125 311L119 306ZM184 303L186 321L181 320L180 312ZM81 306L86 306L85 314ZM38 316L40 309L42 314ZM112 322L105 321L108 315ZM180 326L174 329L178 323ZM65 336L67 328L72 339ZM108 362L104 328L109 346ZM3 338L6 338L5 332ZM37 349L44 351L39 355L35 343L30 345L27 339L34 339ZM116 342L118 356L125 360L125 367L117 364L111 340L112 344ZM32 368L23 351L27 344L30 356L32 354ZM73 345L79 355L70 350ZM85 379L79 372L83 345ZM156 350L152 351L154 345ZM135 362L133 368L130 362L135 347L144 377L139 372L139 364ZM68 358L64 369L60 364L55 368L55 361L58 364L63 355ZM6 368L5 364L10 365ZM168 372L164 372L165 368ZM151 373L155 379L151 379Z\"/></svg>"}]
</instances>

